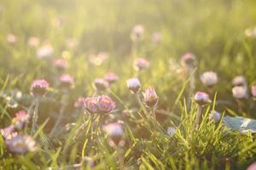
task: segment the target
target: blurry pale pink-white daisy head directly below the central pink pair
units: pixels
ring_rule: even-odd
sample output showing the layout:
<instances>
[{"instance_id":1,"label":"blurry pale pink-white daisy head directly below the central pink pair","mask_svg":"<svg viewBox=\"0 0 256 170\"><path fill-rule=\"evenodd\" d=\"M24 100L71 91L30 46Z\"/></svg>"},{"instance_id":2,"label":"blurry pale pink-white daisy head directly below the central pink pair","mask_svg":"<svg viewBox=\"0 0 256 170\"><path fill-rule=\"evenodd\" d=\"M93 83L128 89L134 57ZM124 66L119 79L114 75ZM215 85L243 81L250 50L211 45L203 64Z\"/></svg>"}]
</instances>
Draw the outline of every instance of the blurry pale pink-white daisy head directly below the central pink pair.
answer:
<instances>
[{"instance_id":1,"label":"blurry pale pink-white daisy head directly below the central pink pair","mask_svg":"<svg viewBox=\"0 0 256 170\"><path fill-rule=\"evenodd\" d=\"M124 129L120 123L109 123L103 126L103 130L108 133L108 137L113 141L115 145L119 145L119 142L124 136Z\"/></svg>"}]
</instances>

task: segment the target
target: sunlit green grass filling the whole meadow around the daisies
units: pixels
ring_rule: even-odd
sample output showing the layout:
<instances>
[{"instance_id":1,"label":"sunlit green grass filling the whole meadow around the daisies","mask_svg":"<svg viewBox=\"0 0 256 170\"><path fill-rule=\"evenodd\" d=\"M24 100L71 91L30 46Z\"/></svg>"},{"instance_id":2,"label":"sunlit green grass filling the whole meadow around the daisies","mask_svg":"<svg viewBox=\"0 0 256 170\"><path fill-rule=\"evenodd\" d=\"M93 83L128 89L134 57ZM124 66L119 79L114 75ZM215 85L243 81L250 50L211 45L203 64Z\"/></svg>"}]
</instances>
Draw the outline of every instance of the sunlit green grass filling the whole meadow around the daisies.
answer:
<instances>
[{"instance_id":1,"label":"sunlit green grass filling the whole meadow around the daisies","mask_svg":"<svg viewBox=\"0 0 256 170\"><path fill-rule=\"evenodd\" d=\"M39 127L33 136L38 150L15 156L0 137L0 169L73 169L84 156L96 160L95 169L117 169L117 150L108 144L108 137L102 131L102 125L116 121L123 122L125 127L126 169L246 169L256 159L255 134L230 131L222 123L209 120L208 115L215 109L225 116L256 118L255 102L247 101L245 109L238 111L231 92L232 79L238 75L244 75L248 85L256 83L255 39L244 34L256 22L255 7L253 0L2 0L0 90L13 99L14 90L23 95L17 99L15 108L1 99L0 127L8 126L16 111L28 110L34 79L49 81L50 90L40 104ZM63 23L54 26L58 18ZM137 75L132 67L130 38L131 29L137 24L145 27L137 57L150 61L149 68L138 75L142 91L154 86L160 98L156 111L158 133L154 138L152 120L145 118L125 84L126 79ZM151 41L154 31L160 31L163 36L158 45ZM15 44L6 41L9 33L18 38ZM48 60L38 59L36 48L27 45L29 37L48 40L55 49L54 57L67 59L67 73L75 79L61 127L52 139L49 132L59 114L63 94L55 86L55 69ZM67 48L66 40L70 37L78 40L76 48ZM108 59L100 66L92 65L89 55L102 51L108 52ZM194 102L190 107L186 105L189 79L183 77L179 62L180 56L187 52L195 54L198 60L196 90L207 90L199 79L204 71L216 71L219 80L214 88L216 102L203 109L197 131L194 129L197 105ZM173 60L172 65L169 59ZM92 82L107 71L119 75L119 81L106 92L116 102L118 111L90 122L89 115L74 109L73 103L81 96L94 94ZM134 112L130 115L124 110ZM85 127L78 133L82 122ZM91 129L96 124L98 127L93 132ZM177 127L172 137L166 133L169 126ZM79 168L90 169L86 165Z\"/></svg>"}]
</instances>

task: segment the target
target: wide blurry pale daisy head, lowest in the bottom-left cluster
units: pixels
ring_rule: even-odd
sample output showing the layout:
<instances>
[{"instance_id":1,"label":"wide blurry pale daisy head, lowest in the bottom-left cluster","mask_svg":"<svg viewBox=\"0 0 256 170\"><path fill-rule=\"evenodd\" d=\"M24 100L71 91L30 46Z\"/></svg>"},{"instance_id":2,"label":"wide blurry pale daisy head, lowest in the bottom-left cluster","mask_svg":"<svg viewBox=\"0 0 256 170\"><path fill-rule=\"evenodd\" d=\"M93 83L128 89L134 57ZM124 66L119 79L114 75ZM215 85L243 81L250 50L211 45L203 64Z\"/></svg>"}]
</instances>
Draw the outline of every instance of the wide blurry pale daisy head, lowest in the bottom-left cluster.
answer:
<instances>
[{"instance_id":1,"label":"wide blurry pale daisy head, lowest in the bottom-left cluster","mask_svg":"<svg viewBox=\"0 0 256 170\"><path fill-rule=\"evenodd\" d=\"M37 149L36 142L32 137L20 134L12 139L6 140L6 144L12 153L18 155L23 155Z\"/></svg>"}]
</instances>

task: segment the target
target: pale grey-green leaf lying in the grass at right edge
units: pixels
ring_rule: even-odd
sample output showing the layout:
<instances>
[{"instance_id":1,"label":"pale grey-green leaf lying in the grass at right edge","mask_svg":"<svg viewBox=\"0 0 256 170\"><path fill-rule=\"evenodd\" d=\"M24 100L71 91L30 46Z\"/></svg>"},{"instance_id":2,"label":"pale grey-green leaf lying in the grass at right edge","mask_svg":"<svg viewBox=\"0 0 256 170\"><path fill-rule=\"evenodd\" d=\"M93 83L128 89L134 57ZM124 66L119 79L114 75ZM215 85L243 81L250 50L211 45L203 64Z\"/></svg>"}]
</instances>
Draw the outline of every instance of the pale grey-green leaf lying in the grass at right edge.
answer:
<instances>
[{"instance_id":1,"label":"pale grey-green leaf lying in the grass at right edge","mask_svg":"<svg viewBox=\"0 0 256 170\"><path fill-rule=\"evenodd\" d=\"M242 116L224 116L224 126L241 133L256 133L256 120Z\"/></svg>"}]
</instances>

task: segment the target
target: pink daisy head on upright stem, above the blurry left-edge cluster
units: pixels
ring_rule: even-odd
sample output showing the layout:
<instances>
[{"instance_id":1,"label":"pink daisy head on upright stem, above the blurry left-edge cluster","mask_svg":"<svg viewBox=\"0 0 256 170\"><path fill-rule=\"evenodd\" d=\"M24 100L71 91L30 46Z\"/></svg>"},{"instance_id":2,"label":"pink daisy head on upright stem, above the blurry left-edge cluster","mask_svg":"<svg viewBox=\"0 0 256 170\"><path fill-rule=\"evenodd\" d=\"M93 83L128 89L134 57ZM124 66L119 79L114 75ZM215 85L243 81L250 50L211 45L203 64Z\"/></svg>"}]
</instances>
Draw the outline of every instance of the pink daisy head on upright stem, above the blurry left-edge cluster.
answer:
<instances>
[{"instance_id":1,"label":"pink daisy head on upright stem, above the blurry left-edge cluster","mask_svg":"<svg viewBox=\"0 0 256 170\"><path fill-rule=\"evenodd\" d=\"M49 83L44 79L34 80L32 82L31 91L34 95L44 95L49 88Z\"/></svg>"}]
</instances>

